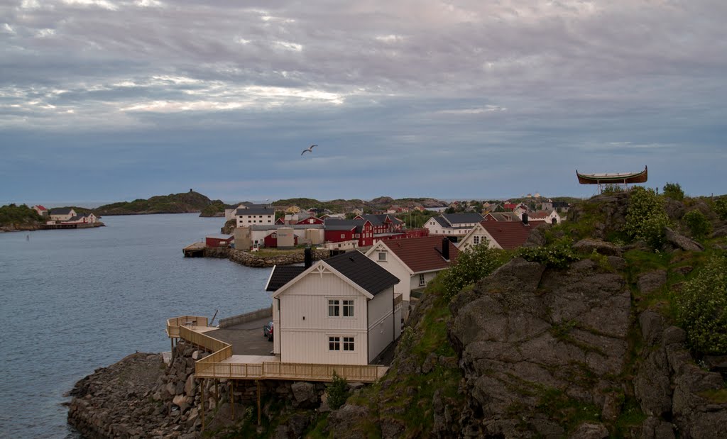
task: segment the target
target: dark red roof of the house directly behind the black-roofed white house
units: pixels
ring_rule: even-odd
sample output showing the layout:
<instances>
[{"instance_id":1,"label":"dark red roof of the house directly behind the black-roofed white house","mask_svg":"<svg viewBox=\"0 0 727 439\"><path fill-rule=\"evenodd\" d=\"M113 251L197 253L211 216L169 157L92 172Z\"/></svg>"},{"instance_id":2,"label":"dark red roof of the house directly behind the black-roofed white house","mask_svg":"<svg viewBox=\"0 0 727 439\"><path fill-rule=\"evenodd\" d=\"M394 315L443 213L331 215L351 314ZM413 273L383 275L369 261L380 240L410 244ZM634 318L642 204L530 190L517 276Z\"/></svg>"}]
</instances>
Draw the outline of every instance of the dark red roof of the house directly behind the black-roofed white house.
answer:
<instances>
[{"instance_id":1,"label":"dark red roof of the house directly behind the black-roofed white house","mask_svg":"<svg viewBox=\"0 0 727 439\"><path fill-rule=\"evenodd\" d=\"M454 243L449 242L449 262L441 254L441 236L425 236L424 238L406 238L387 241L386 246L401 259L414 273L422 271L442 270L457 260L459 251Z\"/></svg>"}]
</instances>

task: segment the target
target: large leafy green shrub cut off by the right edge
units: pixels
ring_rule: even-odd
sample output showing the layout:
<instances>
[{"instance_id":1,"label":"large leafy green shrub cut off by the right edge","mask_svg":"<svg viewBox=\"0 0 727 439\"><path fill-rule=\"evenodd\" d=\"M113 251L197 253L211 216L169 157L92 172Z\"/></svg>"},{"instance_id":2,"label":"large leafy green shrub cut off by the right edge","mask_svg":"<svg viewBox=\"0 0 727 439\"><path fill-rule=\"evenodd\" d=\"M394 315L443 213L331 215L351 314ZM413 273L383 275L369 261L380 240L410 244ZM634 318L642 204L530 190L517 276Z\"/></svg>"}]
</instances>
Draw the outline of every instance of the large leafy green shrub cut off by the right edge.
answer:
<instances>
[{"instance_id":1,"label":"large leafy green shrub cut off by the right edge","mask_svg":"<svg viewBox=\"0 0 727 439\"><path fill-rule=\"evenodd\" d=\"M712 257L675 293L677 319L698 353L727 353L727 259Z\"/></svg>"}]
</instances>

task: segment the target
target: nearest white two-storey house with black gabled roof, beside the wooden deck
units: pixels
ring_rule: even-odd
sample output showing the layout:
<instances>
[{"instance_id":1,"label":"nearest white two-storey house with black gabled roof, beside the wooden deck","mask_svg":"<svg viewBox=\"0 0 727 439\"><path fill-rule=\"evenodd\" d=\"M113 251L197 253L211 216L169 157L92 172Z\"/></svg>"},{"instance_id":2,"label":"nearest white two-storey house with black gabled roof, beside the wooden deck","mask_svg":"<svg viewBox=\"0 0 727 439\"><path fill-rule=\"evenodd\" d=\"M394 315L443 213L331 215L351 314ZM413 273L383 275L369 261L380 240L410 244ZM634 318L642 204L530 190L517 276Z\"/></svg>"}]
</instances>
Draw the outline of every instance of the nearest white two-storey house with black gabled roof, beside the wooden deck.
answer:
<instances>
[{"instance_id":1,"label":"nearest white two-storey house with black gabled roof, beside the wooden deck","mask_svg":"<svg viewBox=\"0 0 727 439\"><path fill-rule=\"evenodd\" d=\"M273 353L285 363L371 363L401 335L398 281L359 251L273 267Z\"/></svg>"}]
</instances>

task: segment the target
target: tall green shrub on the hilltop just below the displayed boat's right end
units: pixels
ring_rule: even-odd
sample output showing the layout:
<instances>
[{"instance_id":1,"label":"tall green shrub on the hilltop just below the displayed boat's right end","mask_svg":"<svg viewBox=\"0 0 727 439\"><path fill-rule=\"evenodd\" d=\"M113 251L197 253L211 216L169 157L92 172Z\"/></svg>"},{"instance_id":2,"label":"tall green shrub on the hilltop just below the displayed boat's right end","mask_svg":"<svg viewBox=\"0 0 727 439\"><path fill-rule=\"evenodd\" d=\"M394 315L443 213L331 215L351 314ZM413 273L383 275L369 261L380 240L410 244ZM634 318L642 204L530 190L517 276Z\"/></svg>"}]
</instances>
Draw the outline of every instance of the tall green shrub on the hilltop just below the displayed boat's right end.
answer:
<instances>
[{"instance_id":1,"label":"tall green shrub on the hilltop just below the displayed boat's right end","mask_svg":"<svg viewBox=\"0 0 727 439\"><path fill-rule=\"evenodd\" d=\"M652 249L664 244L669 217L664 212L664 200L653 189L636 186L630 190L624 232L635 241L646 241Z\"/></svg>"}]
</instances>

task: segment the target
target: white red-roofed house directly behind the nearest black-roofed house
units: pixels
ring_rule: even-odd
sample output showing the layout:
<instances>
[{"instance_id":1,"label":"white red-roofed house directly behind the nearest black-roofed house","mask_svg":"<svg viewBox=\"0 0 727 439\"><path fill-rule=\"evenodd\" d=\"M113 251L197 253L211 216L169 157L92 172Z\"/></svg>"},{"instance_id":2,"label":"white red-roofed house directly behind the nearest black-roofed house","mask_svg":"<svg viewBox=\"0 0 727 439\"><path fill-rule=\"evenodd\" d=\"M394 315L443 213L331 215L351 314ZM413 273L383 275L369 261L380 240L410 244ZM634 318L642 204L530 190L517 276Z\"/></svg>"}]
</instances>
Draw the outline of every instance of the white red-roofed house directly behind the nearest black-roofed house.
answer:
<instances>
[{"instance_id":1,"label":"white red-roofed house directly behind the nearest black-roofed house","mask_svg":"<svg viewBox=\"0 0 727 439\"><path fill-rule=\"evenodd\" d=\"M405 319L409 318L411 291L425 288L458 256L457 246L442 236L379 241L366 251L366 257L398 278L394 292L402 296Z\"/></svg>"}]
</instances>

